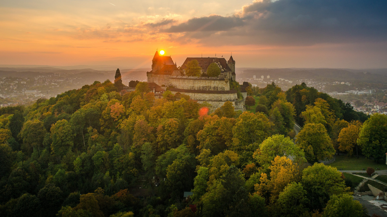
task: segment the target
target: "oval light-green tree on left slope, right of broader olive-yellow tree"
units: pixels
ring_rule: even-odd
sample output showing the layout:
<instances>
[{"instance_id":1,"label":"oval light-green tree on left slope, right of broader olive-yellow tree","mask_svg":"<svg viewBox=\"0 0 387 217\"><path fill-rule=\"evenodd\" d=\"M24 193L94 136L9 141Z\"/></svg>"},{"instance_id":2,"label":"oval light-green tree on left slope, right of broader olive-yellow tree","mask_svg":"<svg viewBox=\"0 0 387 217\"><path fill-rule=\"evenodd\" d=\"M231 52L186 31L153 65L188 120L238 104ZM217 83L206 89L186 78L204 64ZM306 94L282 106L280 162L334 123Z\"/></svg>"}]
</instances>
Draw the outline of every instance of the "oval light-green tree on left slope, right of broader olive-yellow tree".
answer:
<instances>
[{"instance_id":1,"label":"oval light-green tree on left slope, right of broader olive-yellow tree","mask_svg":"<svg viewBox=\"0 0 387 217\"><path fill-rule=\"evenodd\" d=\"M67 120L58 120L51 127L51 149L58 161L74 146L74 134Z\"/></svg>"}]
</instances>

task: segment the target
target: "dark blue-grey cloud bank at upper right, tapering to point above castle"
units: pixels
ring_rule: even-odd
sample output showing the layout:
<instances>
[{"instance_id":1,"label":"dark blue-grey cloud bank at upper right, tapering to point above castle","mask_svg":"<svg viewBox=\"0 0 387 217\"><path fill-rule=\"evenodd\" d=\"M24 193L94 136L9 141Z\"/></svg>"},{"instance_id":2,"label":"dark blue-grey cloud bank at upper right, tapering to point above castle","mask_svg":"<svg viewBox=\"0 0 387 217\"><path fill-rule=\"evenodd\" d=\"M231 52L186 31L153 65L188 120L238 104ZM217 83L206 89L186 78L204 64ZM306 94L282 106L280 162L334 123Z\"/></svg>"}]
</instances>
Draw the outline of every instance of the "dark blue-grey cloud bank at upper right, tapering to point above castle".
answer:
<instances>
[{"instance_id":1,"label":"dark blue-grey cloud bank at upper right, tapering to point above castle","mask_svg":"<svg viewBox=\"0 0 387 217\"><path fill-rule=\"evenodd\" d=\"M310 45L387 41L385 0L264 0L223 17L211 15L173 25L167 32L212 31L202 42ZM214 33L217 32L216 35ZM195 37L200 34L195 34Z\"/></svg>"}]
</instances>

